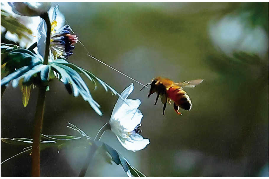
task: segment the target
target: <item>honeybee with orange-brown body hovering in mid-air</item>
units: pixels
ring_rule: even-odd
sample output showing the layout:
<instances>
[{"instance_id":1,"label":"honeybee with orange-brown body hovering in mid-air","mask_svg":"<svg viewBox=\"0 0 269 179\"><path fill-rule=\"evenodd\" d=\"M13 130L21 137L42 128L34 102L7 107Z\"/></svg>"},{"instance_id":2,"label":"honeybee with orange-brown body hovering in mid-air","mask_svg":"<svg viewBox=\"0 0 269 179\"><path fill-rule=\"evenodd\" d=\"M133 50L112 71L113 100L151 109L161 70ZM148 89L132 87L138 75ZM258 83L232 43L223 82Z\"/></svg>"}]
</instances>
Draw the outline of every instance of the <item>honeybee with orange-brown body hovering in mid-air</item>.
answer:
<instances>
[{"instance_id":1,"label":"honeybee with orange-brown body hovering in mid-air","mask_svg":"<svg viewBox=\"0 0 269 179\"><path fill-rule=\"evenodd\" d=\"M142 91L146 86L151 85L148 97L156 92L157 98L154 105L157 105L158 98L161 95L160 97L163 104L163 115L166 108L166 103L168 102L171 104L171 101L174 101L174 110L176 113L181 114L179 112L179 107L188 111L192 109L192 101L190 100L187 93L182 90L182 87L194 88L196 85L202 83L203 81L204 80L199 79L174 83L168 78L157 77L153 78L151 83L146 84L140 91Z\"/></svg>"}]
</instances>

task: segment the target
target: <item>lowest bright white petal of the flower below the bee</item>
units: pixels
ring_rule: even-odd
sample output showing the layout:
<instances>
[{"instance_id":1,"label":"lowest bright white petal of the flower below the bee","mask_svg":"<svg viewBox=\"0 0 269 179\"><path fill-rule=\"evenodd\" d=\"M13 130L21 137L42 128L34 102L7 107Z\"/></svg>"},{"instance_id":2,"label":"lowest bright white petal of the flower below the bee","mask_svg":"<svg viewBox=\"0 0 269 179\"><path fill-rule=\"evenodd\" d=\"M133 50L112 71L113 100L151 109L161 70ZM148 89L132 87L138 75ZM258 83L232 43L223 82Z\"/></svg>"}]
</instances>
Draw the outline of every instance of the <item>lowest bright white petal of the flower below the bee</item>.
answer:
<instances>
[{"instance_id":1,"label":"lowest bright white petal of the flower below the bee","mask_svg":"<svg viewBox=\"0 0 269 179\"><path fill-rule=\"evenodd\" d=\"M127 150L132 150L133 152L144 149L150 143L149 139L143 139L141 141L135 141L135 140L127 141L126 140L125 142L122 142L118 136L117 138L124 148L126 148Z\"/></svg>"}]
</instances>

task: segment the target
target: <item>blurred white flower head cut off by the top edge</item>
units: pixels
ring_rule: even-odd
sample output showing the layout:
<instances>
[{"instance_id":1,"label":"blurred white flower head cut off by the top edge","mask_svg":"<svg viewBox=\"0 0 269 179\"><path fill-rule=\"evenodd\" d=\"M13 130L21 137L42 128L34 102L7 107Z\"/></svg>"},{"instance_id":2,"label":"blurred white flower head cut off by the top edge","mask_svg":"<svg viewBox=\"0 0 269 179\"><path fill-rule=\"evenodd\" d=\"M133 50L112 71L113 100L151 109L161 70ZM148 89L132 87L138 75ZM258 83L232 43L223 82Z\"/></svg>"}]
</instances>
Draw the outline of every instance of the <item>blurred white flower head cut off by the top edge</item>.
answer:
<instances>
[{"instance_id":1,"label":"blurred white flower head cut off by the top edge","mask_svg":"<svg viewBox=\"0 0 269 179\"><path fill-rule=\"evenodd\" d=\"M14 13L22 16L40 16L51 7L49 2L10 2L9 5Z\"/></svg>"}]
</instances>

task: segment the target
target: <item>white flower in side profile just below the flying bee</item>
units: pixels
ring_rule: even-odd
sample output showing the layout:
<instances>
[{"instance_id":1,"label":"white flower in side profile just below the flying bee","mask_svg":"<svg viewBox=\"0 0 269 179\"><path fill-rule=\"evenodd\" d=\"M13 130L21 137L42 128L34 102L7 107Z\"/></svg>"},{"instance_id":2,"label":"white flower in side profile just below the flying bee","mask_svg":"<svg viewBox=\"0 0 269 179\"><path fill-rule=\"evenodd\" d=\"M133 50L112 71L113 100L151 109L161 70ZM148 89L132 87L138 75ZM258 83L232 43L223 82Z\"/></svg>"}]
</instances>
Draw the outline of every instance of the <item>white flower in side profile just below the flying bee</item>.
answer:
<instances>
[{"instance_id":1,"label":"white flower in side profile just below the flying bee","mask_svg":"<svg viewBox=\"0 0 269 179\"><path fill-rule=\"evenodd\" d=\"M143 117L141 111L137 109L141 104L139 99L127 99L134 90L133 83L127 87L121 97L129 104L126 104L121 98L118 99L109 120L111 131L117 136L119 142L127 150L133 152L142 150L150 143L149 139L144 139L138 133L140 131L141 119Z\"/></svg>"}]
</instances>

